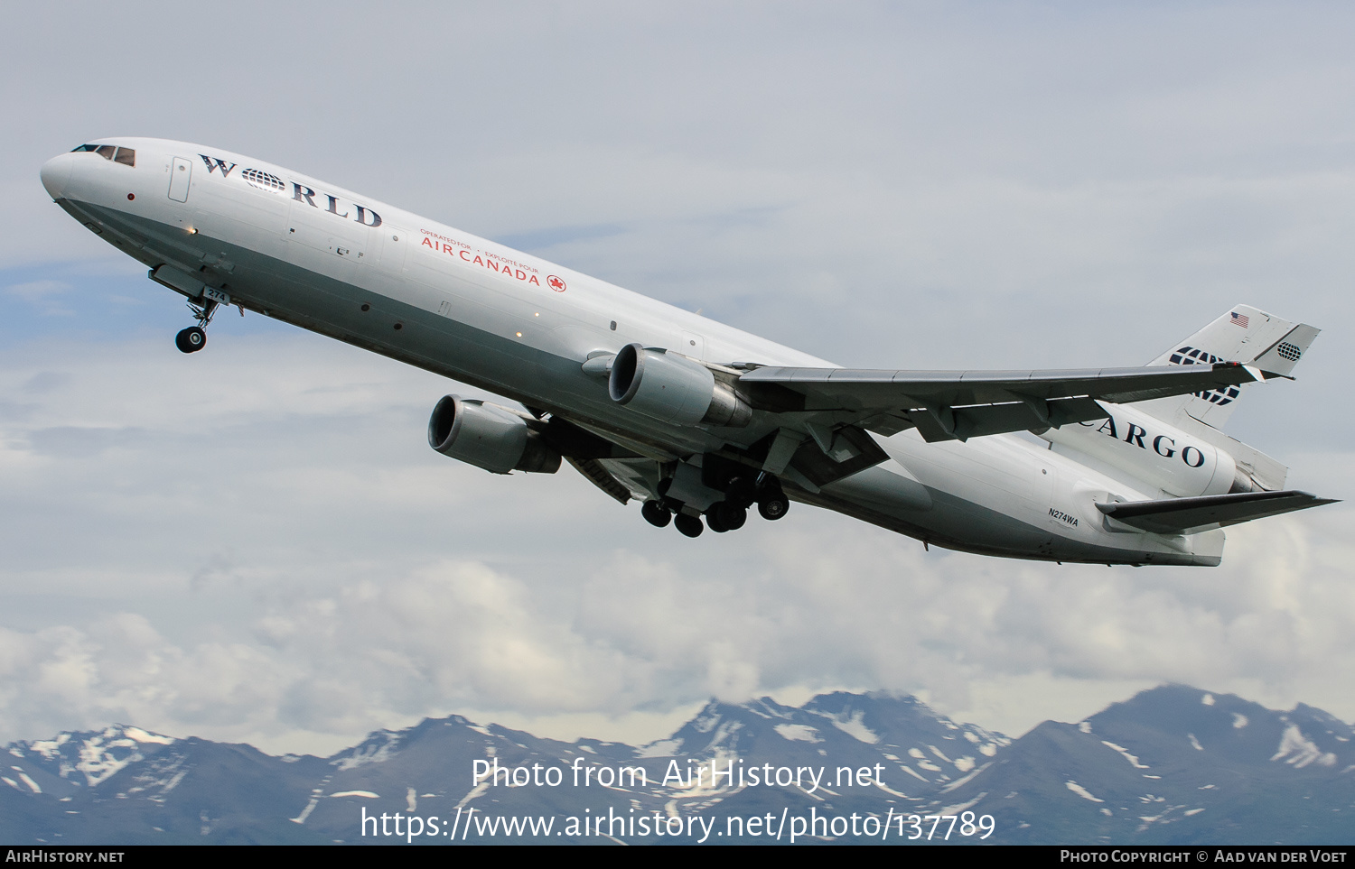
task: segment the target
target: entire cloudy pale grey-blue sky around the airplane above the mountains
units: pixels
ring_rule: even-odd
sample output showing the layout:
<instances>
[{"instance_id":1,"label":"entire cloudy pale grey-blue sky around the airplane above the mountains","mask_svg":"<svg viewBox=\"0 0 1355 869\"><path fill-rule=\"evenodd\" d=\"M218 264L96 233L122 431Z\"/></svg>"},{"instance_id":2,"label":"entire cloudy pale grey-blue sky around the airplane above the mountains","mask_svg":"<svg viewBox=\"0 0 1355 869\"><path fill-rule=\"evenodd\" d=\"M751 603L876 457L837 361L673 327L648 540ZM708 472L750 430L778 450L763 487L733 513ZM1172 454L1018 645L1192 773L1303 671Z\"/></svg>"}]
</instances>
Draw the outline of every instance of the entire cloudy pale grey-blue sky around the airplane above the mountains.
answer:
<instances>
[{"instance_id":1,"label":"entire cloudy pale grey-blue sky around the airplane above the mountains","mask_svg":"<svg viewBox=\"0 0 1355 869\"><path fill-rule=\"evenodd\" d=\"M710 697L916 693L1009 735L1161 682L1355 720L1355 514L1218 569L940 550L797 505L688 540L427 447L423 371L175 294L49 157L294 168L854 367L1135 365L1324 330L1229 433L1355 495L1347 4L183 4L0 34L0 743L327 754L458 712L657 739Z\"/></svg>"}]
</instances>

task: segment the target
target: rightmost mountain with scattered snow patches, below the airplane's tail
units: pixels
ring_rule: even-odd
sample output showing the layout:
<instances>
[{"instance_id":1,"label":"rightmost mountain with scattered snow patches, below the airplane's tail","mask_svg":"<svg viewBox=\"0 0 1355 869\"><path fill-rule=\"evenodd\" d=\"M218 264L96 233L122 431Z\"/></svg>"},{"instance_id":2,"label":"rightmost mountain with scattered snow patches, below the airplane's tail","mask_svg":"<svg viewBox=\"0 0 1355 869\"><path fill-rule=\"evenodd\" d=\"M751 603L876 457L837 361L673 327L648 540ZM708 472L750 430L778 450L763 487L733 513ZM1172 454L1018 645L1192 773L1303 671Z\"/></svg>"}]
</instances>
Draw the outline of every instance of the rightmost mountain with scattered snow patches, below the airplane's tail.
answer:
<instances>
[{"instance_id":1,"label":"rightmost mountain with scattered snow patches, below the airplane's tail","mask_svg":"<svg viewBox=\"0 0 1355 869\"><path fill-rule=\"evenodd\" d=\"M1350 843L1352 738L1304 704L1275 712L1171 685L1045 721L953 797L1011 842Z\"/></svg>"}]
</instances>

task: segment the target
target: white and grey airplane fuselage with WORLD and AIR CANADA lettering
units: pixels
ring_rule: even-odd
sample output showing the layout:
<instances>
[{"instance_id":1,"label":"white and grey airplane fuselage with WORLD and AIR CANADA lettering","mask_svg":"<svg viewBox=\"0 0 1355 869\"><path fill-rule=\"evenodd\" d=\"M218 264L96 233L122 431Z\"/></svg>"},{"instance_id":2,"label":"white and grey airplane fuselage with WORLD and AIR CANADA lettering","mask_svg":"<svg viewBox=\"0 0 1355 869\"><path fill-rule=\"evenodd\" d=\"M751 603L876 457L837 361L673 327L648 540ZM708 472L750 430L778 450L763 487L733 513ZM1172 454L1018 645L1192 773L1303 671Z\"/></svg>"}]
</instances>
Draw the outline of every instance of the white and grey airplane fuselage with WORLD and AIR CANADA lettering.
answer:
<instances>
[{"instance_id":1,"label":"white and grey airplane fuselage with WORLD and AIR CANADA lettering","mask_svg":"<svg viewBox=\"0 0 1355 869\"><path fill-rule=\"evenodd\" d=\"M618 405L606 372L588 371L589 359L638 342L717 367L833 367L266 161L163 139L99 143L134 150L134 165L98 153L61 154L43 166L43 184L72 217L156 271L161 283L190 298L215 292L230 305L504 395L659 464L749 448L775 435L776 425L762 417L743 428L657 421ZM790 481L786 493L970 552L1220 562L1220 529L1145 533L1095 506L1163 497L1159 485L1047 444L1011 435L925 443L916 429L871 437L886 462L821 487ZM1127 445L1146 455L1154 441L1137 437ZM1156 441L1157 456L1183 464L1186 453L1188 467L1169 472L1196 472L1196 453L1187 451L1203 455L1207 445L1179 440Z\"/></svg>"}]
</instances>

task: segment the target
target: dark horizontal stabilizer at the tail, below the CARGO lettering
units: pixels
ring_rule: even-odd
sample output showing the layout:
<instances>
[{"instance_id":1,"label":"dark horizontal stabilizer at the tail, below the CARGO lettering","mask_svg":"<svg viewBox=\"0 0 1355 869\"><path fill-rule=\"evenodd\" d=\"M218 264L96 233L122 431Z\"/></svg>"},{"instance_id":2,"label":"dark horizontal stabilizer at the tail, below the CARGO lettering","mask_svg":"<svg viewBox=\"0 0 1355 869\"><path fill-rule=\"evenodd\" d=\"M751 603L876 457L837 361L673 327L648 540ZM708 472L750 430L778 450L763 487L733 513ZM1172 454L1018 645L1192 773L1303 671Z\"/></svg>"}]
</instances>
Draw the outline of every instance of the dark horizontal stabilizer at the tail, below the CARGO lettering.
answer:
<instances>
[{"instance_id":1,"label":"dark horizontal stabilizer at the tail, below the CARGO lettering","mask_svg":"<svg viewBox=\"0 0 1355 869\"><path fill-rule=\"evenodd\" d=\"M1294 490L1244 491L1199 498L1098 504L1096 509L1115 521L1153 533L1191 535L1224 525L1249 522L1253 518L1336 504L1336 498L1318 498L1306 491Z\"/></svg>"}]
</instances>

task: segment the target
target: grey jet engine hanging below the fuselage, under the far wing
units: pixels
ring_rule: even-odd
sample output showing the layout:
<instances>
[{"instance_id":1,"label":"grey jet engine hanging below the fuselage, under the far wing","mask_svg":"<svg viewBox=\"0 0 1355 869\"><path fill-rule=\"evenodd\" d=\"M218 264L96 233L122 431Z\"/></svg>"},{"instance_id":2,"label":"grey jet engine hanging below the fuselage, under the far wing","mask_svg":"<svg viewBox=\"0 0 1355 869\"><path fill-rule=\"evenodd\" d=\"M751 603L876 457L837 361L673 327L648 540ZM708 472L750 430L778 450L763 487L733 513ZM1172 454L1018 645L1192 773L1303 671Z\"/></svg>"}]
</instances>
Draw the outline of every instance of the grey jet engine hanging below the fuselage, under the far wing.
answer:
<instances>
[{"instance_id":1,"label":"grey jet engine hanging below the fuselage, under the far wing","mask_svg":"<svg viewBox=\"0 0 1355 869\"><path fill-rule=\"evenodd\" d=\"M495 474L554 474L560 470L560 452L526 420L507 407L457 395L443 395L432 409L428 445Z\"/></svg>"}]
</instances>

